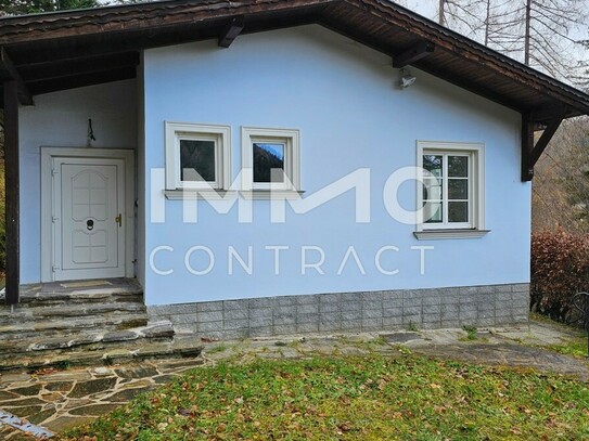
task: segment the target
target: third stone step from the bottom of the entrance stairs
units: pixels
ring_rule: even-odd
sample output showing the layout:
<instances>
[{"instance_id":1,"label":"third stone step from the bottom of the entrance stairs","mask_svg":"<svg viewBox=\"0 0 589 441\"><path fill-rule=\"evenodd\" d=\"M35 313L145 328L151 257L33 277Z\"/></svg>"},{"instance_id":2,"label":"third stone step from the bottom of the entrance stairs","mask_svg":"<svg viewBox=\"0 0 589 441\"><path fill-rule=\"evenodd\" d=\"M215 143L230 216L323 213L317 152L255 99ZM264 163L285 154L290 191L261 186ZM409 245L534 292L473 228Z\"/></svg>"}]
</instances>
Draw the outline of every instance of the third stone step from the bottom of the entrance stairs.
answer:
<instances>
[{"instance_id":1,"label":"third stone step from the bottom of the entrance stairs","mask_svg":"<svg viewBox=\"0 0 589 441\"><path fill-rule=\"evenodd\" d=\"M85 315L74 319L46 319L30 321L0 321L0 341L14 338L23 339L38 337L39 335L52 335L67 332L68 334L87 332L89 329L128 329L145 326L148 324L146 313L124 313L105 315Z\"/></svg>"}]
</instances>

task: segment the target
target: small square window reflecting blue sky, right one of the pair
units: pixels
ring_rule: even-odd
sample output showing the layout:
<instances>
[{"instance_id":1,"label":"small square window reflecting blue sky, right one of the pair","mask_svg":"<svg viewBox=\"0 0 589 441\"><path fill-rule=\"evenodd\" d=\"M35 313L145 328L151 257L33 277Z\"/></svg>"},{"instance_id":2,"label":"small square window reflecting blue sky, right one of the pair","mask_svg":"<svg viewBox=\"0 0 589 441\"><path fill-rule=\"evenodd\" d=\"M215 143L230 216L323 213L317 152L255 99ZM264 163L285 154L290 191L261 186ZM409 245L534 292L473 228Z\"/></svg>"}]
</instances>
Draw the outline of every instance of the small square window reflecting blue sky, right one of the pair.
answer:
<instances>
[{"instance_id":1,"label":"small square window reflecting blue sky, right one of the pair","mask_svg":"<svg viewBox=\"0 0 589 441\"><path fill-rule=\"evenodd\" d=\"M242 127L243 190L296 192L299 163L298 130Z\"/></svg>"}]
</instances>

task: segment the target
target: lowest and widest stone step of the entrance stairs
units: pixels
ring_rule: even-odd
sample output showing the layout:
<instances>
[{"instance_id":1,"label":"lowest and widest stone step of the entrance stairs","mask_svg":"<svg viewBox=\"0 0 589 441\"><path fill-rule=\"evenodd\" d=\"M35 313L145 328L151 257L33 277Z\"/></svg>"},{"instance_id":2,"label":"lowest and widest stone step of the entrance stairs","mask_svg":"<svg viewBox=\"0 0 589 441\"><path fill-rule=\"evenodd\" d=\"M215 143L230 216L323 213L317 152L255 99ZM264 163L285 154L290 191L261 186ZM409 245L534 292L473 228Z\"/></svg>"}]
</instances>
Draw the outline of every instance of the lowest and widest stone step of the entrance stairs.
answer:
<instances>
[{"instance_id":1,"label":"lowest and widest stone step of the entrance stairs","mask_svg":"<svg viewBox=\"0 0 589 441\"><path fill-rule=\"evenodd\" d=\"M203 349L203 343L196 337L180 337L170 341L135 340L119 345L104 347L95 351L69 351L64 353L36 353L26 356L5 355L0 356L0 371L12 369L38 369L47 367L64 368L67 366L85 365L112 365L138 362L153 359L182 359L197 358Z\"/></svg>"}]
</instances>

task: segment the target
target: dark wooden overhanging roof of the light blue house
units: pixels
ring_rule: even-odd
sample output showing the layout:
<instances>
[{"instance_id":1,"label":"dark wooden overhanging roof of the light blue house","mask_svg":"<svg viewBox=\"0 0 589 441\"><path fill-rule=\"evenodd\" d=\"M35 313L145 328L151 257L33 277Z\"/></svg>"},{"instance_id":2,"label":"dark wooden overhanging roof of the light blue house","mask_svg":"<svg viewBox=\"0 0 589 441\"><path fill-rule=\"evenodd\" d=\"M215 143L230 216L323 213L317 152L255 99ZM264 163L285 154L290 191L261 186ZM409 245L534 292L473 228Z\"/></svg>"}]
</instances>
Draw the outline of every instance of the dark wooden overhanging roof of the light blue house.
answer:
<instances>
[{"instance_id":1,"label":"dark wooden overhanging roof of the light blue house","mask_svg":"<svg viewBox=\"0 0 589 441\"><path fill-rule=\"evenodd\" d=\"M242 34L319 24L394 60L422 48L412 66L536 122L589 114L588 94L387 0L171 0L4 17L0 47L36 95L133 78L141 50L218 38L232 20Z\"/></svg>"}]
</instances>

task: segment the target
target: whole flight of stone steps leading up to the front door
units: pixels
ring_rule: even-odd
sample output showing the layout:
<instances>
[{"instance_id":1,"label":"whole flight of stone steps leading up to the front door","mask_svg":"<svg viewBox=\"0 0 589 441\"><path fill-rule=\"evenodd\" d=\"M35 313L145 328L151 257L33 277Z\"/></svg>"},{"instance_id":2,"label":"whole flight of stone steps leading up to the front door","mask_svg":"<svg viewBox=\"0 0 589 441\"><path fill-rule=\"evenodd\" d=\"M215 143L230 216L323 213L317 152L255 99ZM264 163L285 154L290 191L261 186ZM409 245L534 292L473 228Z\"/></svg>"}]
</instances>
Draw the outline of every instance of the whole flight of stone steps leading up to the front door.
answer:
<instances>
[{"instance_id":1,"label":"whole flight of stone steps leading up to the front door","mask_svg":"<svg viewBox=\"0 0 589 441\"><path fill-rule=\"evenodd\" d=\"M0 306L0 369L192 356L200 347L175 342L168 321L148 323L133 280L26 285L21 303Z\"/></svg>"}]
</instances>

